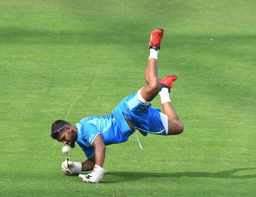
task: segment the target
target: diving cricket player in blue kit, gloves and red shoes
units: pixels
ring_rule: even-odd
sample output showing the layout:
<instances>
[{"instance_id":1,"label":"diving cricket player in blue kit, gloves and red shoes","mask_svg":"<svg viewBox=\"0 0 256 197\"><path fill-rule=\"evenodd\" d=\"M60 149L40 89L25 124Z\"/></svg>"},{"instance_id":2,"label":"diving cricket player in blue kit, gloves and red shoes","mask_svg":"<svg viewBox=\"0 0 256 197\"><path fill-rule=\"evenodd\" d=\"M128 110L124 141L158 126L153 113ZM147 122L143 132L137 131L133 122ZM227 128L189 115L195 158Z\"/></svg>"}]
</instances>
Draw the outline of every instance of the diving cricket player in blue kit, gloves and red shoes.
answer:
<instances>
[{"instance_id":1,"label":"diving cricket player in blue kit, gloves and red shoes","mask_svg":"<svg viewBox=\"0 0 256 197\"><path fill-rule=\"evenodd\" d=\"M111 114L86 117L75 125L64 120L52 124L52 138L71 148L74 148L77 142L88 158L83 163L73 162L67 158L62 163L62 171L66 175L79 175L83 182L98 183L107 172L102 168L106 146L126 142L136 130L144 136L149 133L164 136L182 133L182 121L169 97L170 89L177 77L170 75L159 79L157 72L157 54L163 34L164 30L159 28L154 29L150 36L150 55L145 70L146 86L125 97ZM152 108L150 104L158 93L163 113L160 109ZM91 173L80 174L81 171L90 170Z\"/></svg>"}]
</instances>

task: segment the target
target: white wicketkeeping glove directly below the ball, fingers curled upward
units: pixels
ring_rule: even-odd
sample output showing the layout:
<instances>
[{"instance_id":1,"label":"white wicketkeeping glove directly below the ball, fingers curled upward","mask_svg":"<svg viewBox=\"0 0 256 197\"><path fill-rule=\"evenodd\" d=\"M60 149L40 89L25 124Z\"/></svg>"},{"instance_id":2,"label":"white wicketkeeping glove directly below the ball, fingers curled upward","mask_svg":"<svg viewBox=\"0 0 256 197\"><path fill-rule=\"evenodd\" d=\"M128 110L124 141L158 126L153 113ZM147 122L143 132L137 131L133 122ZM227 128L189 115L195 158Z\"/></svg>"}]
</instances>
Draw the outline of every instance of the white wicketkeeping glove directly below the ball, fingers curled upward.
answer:
<instances>
[{"instance_id":1,"label":"white wicketkeeping glove directly below the ball, fingers curled upward","mask_svg":"<svg viewBox=\"0 0 256 197\"><path fill-rule=\"evenodd\" d=\"M82 171L82 163L70 161L69 157L67 157L66 160L62 162L61 168L66 175L78 175Z\"/></svg>"}]
</instances>

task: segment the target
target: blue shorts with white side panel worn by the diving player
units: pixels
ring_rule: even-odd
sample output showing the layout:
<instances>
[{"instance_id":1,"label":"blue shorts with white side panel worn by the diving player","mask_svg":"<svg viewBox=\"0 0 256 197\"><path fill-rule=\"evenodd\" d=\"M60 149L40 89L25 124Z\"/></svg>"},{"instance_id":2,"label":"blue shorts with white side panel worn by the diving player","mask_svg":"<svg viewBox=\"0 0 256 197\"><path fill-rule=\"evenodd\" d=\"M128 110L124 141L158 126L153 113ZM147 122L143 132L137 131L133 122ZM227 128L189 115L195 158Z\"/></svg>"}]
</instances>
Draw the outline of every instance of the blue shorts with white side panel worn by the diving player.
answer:
<instances>
[{"instance_id":1,"label":"blue shorts with white side panel worn by the diving player","mask_svg":"<svg viewBox=\"0 0 256 197\"><path fill-rule=\"evenodd\" d=\"M149 105L143 105L138 100L140 90L125 97L117 107L121 109L123 115L133 124L135 129L147 136L148 133L167 135L168 117L161 113L159 108L154 109Z\"/></svg>"}]
</instances>

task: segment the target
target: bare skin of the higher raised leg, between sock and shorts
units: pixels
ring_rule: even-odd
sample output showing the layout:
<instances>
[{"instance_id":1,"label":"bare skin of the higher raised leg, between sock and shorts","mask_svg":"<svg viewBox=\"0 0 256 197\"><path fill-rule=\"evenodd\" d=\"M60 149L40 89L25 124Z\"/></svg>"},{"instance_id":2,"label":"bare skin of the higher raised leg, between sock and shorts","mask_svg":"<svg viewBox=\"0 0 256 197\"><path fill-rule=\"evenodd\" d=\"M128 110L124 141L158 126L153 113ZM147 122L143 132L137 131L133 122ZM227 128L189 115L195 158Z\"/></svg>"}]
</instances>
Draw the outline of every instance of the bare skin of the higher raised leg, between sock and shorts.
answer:
<instances>
[{"instance_id":1,"label":"bare skin of the higher raised leg, between sock and shorts","mask_svg":"<svg viewBox=\"0 0 256 197\"><path fill-rule=\"evenodd\" d=\"M157 72L157 60L150 58L145 71L147 85L142 88L141 95L146 101L153 100L160 91L160 83Z\"/></svg>"}]
</instances>

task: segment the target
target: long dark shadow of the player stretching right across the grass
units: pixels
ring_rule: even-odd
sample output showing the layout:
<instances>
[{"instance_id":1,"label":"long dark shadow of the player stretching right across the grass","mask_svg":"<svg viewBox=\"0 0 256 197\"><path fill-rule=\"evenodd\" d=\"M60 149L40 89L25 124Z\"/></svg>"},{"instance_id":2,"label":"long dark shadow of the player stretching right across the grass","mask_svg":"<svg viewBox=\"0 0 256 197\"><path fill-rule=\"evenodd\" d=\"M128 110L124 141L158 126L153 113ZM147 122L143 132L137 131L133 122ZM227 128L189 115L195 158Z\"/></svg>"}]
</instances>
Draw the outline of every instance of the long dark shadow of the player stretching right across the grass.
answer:
<instances>
[{"instance_id":1,"label":"long dark shadow of the player stretching right across the grass","mask_svg":"<svg viewBox=\"0 0 256 197\"><path fill-rule=\"evenodd\" d=\"M105 183L113 183L120 181L133 181L143 178L180 178L180 177L206 177L206 178L255 178L256 174L250 175L233 175L242 170L255 170L254 168L236 168L234 170L227 170L221 172L176 172L176 173L154 173L154 172L108 172L106 175L115 178L114 181L107 181ZM104 182L104 181L102 181Z\"/></svg>"}]
</instances>

